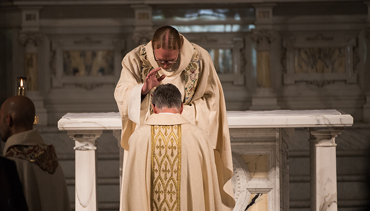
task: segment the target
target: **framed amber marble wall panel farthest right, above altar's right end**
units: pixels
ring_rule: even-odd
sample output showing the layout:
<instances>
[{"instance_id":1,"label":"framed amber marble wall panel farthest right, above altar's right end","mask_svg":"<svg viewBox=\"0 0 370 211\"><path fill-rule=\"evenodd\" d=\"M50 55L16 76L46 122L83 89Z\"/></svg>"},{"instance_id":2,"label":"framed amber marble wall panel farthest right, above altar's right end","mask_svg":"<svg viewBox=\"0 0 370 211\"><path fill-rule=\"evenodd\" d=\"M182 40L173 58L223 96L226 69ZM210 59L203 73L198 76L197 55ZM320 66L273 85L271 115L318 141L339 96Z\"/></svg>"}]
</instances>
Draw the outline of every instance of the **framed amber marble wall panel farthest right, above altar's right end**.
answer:
<instances>
[{"instance_id":1,"label":"framed amber marble wall panel farthest right, above altar's right end","mask_svg":"<svg viewBox=\"0 0 370 211\"><path fill-rule=\"evenodd\" d=\"M335 81L356 83L356 39L356 35L323 34L285 37L281 59L286 70L284 84L306 82L322 87Z\"/></svg>"}]
</instances>

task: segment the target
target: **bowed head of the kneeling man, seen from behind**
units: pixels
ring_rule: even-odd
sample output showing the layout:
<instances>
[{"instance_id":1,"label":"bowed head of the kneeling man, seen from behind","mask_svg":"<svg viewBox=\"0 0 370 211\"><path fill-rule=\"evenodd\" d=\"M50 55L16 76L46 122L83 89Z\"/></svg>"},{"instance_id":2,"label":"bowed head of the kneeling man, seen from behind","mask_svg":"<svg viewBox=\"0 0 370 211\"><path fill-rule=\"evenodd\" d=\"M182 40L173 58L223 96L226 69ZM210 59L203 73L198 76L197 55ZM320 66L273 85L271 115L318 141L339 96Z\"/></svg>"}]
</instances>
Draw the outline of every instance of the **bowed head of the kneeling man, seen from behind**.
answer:
<instances>
[{"instance_id":1,"label":"bowed head of the kneeling man, seen from behind","mask_svg":"<svg viewBox=\"0 0 370 211\"><path fill-rule=\"evenodd\" d=\"M179 89L171 84L158 85L151 100L154 113L182 113L183 102Z\"/></svg>"}]
</instances>

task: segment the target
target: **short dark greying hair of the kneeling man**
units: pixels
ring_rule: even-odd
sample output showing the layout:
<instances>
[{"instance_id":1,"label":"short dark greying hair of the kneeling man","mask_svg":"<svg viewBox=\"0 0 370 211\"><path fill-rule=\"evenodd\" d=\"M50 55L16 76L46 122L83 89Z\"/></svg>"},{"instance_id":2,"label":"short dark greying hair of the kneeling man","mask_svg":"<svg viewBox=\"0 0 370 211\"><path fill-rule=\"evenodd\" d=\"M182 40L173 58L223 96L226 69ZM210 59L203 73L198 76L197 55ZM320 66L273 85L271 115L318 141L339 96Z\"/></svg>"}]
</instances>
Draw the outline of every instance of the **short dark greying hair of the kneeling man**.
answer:
<instances>
[{"instance_id":1,"label":"short dark greying hair of the kneeling man","mask_svg":"<svg viewBox=\"0 0 370 211\"><path fill-rule=\"evenodd\" d=\"M158 85L153 92L151 103L159 109L163 107L178 109L183 104L179 89L171 83Z\"/></svg>"}]
</instances>

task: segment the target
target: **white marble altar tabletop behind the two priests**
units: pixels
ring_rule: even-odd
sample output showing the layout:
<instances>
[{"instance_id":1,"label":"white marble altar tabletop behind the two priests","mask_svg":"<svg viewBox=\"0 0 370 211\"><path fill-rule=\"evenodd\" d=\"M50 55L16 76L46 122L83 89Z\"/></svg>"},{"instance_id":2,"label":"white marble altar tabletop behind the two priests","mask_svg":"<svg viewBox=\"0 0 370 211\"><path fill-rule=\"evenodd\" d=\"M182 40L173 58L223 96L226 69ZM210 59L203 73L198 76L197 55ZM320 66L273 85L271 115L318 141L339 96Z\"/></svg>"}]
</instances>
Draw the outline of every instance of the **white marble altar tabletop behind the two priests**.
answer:
<instances>
[{"instance_id":1,"label":"white marble altar tabletop behind the two priests","mask_svg":"<svg viewBox=\"0 0 370 211\"><path fill-rule=\"evenodd\" d=\"M349 127L353 117L337 110L227 111L229 128ZM119 112L67 113L59 130L120 130Z\"/></svg>"}]
</instances>

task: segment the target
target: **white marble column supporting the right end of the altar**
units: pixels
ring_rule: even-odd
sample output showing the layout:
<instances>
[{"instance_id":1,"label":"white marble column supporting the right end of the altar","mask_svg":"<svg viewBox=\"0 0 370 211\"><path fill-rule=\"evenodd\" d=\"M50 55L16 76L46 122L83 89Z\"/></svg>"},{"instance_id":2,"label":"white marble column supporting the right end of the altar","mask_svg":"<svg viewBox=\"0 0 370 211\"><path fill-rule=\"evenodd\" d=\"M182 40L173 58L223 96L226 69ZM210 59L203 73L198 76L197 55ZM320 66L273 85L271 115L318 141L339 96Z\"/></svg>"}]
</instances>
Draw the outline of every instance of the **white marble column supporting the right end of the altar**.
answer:
<instances>
[{"instance_id":1,"label":"white marble column supporting the right end of the altar","mask_svg":"<svg viewBox=\"0 0 370 211\"><path fill-rule=\"evenodd\" d=\"M311 211L337 211L335 137L343 128L310 131Z\"/></svg>"}]
</instances>

